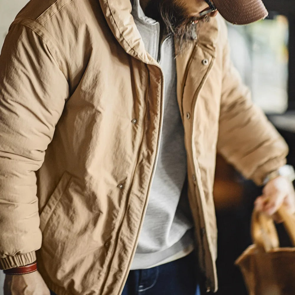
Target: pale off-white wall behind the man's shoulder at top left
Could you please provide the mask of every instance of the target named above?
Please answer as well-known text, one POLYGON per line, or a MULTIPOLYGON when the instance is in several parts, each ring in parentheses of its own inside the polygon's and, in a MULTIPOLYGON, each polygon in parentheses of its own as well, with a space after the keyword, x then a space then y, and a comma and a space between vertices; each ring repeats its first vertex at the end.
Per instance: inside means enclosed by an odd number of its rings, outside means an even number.
MULTIPOLYGON (((8 32, 9 25, 27 2, 27 0, 0 0, 0 49, 8 32)), ((3 282, 4 274, 0 271, 0 295, 3 295, 3 282)))

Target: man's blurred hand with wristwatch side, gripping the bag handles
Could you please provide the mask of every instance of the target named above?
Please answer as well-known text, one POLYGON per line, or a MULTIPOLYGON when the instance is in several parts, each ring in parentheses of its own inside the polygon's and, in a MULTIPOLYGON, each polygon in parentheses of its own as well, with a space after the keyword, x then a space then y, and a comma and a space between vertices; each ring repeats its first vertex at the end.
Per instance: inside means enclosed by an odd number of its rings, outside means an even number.
POLYGON ((277 219, 275 213, 284 204, 290 214, 295 213, 295 191, 287 178, 279 176, 269 181, 262 192, 255 201, 256 210, 277 219))

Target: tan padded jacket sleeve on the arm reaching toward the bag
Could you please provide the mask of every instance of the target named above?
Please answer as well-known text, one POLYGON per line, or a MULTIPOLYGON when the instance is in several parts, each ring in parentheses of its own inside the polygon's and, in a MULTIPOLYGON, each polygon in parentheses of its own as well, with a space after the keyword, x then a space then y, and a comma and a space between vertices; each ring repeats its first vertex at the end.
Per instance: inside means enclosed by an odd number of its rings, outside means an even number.
POLYGON ((249 89, 230 60, 228 42, 223 53, 217 150, 246 178, 262 185, 268 173, 285 165, 288 146, 262 110, 252 103, 249 89))

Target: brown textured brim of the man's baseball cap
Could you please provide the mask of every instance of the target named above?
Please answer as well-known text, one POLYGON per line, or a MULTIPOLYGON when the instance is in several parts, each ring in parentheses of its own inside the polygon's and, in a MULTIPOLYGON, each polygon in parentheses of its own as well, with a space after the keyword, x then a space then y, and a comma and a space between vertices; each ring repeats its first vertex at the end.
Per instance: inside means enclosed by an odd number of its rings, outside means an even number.
POLYGON ((261 0, 213 0, 219 13, 232 24, 250 24, 268 16, 261 0))

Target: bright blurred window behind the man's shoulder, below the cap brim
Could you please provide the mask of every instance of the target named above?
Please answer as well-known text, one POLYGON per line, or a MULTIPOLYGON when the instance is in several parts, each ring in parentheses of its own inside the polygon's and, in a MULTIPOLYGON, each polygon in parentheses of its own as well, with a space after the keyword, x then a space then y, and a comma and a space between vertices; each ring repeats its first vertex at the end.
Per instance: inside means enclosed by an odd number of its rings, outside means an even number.
POLYGON ((228 24, 233 63, 266 113, 288 107, 289 23, 274 15, 247 26, 228 24))

